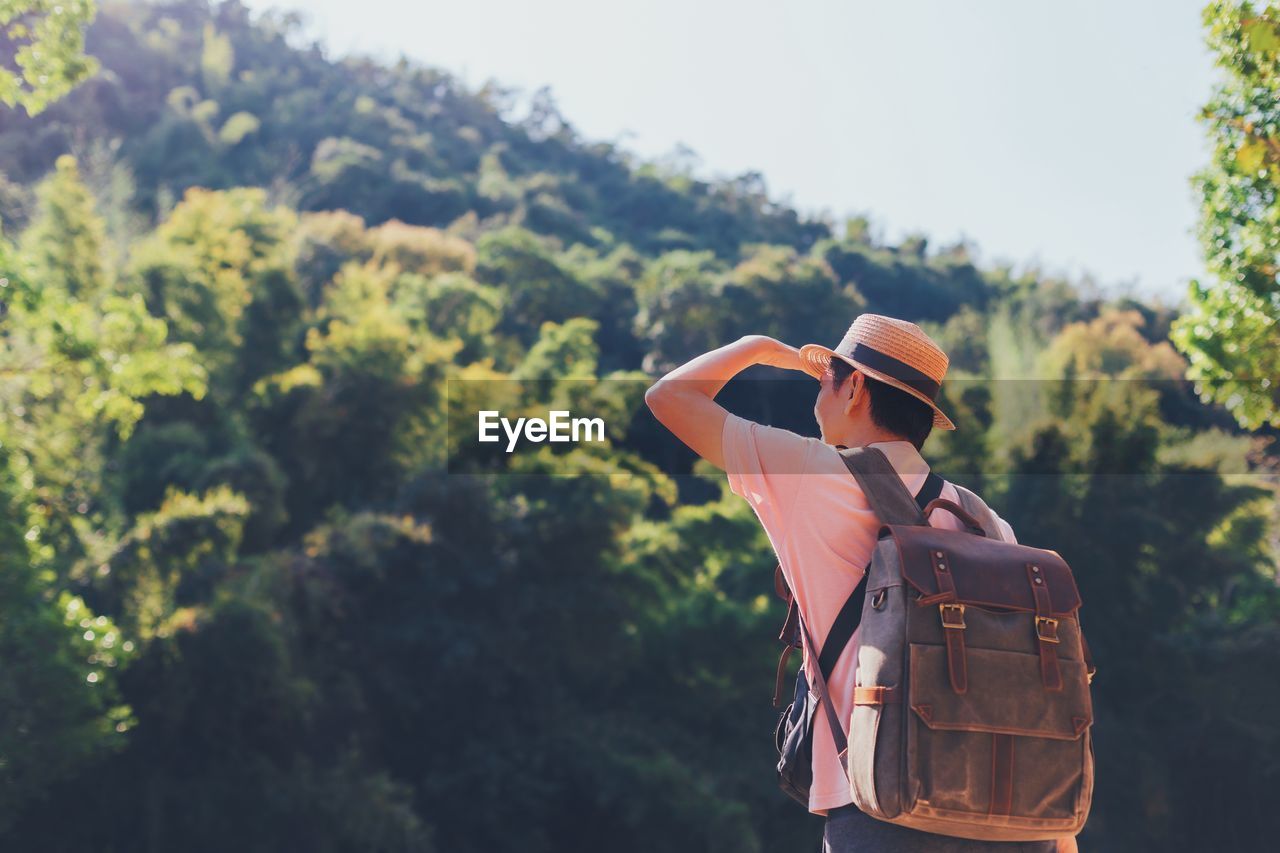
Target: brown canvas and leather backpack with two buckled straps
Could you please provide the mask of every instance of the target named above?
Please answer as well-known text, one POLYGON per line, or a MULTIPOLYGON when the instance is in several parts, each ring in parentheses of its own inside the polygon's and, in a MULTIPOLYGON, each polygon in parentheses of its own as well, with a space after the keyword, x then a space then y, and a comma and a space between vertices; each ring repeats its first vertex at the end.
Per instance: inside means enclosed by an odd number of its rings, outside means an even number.
POLYGON ((878 450, 841 456, 882 523, 860 584, 847 735, 827 697, 829 670, 814 683, 854 803, 940 835, 1078 834, 1093 798, 1094 667, 1070 567, 1053 551, 1004 542, 968 489, 956 487, 960 506, 937 498, 922 510, 878 450), (931 526, 938 508, 968 529, 931 526))

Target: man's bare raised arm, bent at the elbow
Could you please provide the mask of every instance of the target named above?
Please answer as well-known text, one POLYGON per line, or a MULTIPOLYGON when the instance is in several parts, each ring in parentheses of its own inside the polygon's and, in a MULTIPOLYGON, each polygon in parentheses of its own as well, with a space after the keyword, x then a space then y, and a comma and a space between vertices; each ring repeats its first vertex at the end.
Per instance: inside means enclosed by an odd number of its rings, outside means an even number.
POLYGON ((680 365, 649 387, 645 402, 676 438, 723 469, 728 412, 716 402, 716 394, 753 364, 800 370, 800 351, 763 334, 749 334, 680 365))

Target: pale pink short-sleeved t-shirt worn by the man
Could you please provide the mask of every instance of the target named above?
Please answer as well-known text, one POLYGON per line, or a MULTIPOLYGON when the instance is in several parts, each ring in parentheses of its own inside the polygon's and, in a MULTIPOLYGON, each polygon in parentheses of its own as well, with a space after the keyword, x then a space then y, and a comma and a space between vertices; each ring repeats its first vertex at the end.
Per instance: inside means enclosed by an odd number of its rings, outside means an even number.
MULTIPOLYGON (((901 441, 870 446, 883 451, 911 494, 920 491, 929 466, 914 444, 901 441)), ((800 606, 800 617, 822 648, 836 615, 870 562, 881 526, 858 480, 833 446, 737 415, 724 420, 724 470, 730 489, 746 498, 764 525, 800 606)), ((951 483, 943 484, 941 497, 957 503, 960 500, 951 483)), ((952 530, 961 526, 950 512, 933 512, 929 523, 952 530)), ((1006 542, 1016 540, 1004 519, 1000 528, 1006 542)), ((827 683, 846 731, 854 707, 858 642, 859 631, 854 631, 827 683)), ((817 658, 810 661, 806 652, 804 666, 813 684, 817 658)), ((854 798, 849 777, 836 758, 827 715, 820 708, 813 716, 813 725, 809 811, 826 815, 827 809, 854 798)))

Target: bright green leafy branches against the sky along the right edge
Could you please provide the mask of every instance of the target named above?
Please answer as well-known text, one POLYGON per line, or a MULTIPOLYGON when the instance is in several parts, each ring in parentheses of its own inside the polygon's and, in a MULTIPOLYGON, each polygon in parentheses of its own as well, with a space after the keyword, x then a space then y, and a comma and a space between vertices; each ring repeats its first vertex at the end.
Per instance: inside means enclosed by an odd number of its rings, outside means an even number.
POLYGON ((1212 160, 1196 179, 1210 280, 1193 282, 1171 337, 1206 398, 1244 426, 1280 426, 1280 10, 1215 0, 1204 24, 1224 70, 1202 114, 1212 160))

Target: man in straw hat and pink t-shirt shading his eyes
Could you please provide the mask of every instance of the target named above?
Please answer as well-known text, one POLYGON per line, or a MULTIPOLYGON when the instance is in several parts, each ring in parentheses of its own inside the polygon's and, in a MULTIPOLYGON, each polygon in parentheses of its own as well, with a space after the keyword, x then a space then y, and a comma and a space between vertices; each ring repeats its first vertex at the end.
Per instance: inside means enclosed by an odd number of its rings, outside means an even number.
MULTIPOLYGON (((861 580, 879 529, 836 448, 879 448, 906 488, 918 493, 929 473, 919 452, 924 441, 934 426, 955 429, 936 402, 947 364, 946 353, 914 323, 863 314, 835 350, 813 343, 796 350, 769 337, 748 336, 676 368, 645 394, 654 416, 694 452, 723 469, 733 493, 751 505, 819 648, 841 605, 861 580), (803 370, 820 382, 813 410, 820 441, 748 421, 716 402, 733 375, 755 364, 803 370)), ((941 497, 959 502, 951 483, 943 485, 941 497)), ((997 521, 1004 538, 1015 542, 1009 524, 997 521)), ((948 512, 932 514, 929 523, 961 526, 948 512)), ((828 681, 840 720, 849 720, 852 710, 858 640, 855 631, 828 681)), ((808 651, 804 666, 812 684, 817 660, 808 651)), ((1075 850, 1070 839, 1057 845, 972 841, 869 817, 852 804, 827 716, 814 715, 813 726, 809 811, 826 817, 824 850, 1075 850)))

